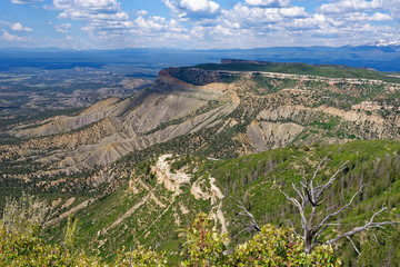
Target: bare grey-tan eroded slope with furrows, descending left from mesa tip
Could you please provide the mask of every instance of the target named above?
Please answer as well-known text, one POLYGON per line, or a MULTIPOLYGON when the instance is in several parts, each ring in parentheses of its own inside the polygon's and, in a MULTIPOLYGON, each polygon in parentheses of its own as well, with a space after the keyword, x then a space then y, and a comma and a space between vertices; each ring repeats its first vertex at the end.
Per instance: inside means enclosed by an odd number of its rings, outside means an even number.
POLYGON ((51 164, 54 171, 90 169, 131 151, 198 131, 229 115, 238 105, 231 92, 190 85, 172 88, 160 78, 156 85, 131 98, 107 99, 76 117, 56 117, 38 127, 13 129, 10 132, 17 137, 53 136, 4 146, 3 157, 9 158, 10 152, 26 155, 27 150, 42 152, 51 142, 51 148, 57 150, 41 155, 41 162, 51 164), (88 139, 91 129, 98 129, 97 135, 88 139), (74 134, 71 130, 76 130, 74 134))

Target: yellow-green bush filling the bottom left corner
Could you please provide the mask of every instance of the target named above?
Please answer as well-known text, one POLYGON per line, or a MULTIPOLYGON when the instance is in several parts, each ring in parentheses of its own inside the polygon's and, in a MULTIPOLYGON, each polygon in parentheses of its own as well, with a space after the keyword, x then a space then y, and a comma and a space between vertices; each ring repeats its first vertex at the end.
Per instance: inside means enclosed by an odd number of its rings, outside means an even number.
POLYGON ((0 220, 0 266, 100 266, 97 258, 73 249, 77 220, 70 218, 61 245, 40 238, 49 207, 33 196, 7 199, 0 220))

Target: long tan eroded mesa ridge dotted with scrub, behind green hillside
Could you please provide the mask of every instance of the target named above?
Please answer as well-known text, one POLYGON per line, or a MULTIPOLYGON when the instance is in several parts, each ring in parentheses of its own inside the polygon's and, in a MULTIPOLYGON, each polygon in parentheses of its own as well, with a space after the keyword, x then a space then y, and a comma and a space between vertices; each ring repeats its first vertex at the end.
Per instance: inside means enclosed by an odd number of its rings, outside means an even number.
MULTIPOLYGON (((399 90, 400 83, 383 80, 167 68, 130 98, 12 129, 24 140, 0 146, 0 160, 14 169, 33 164, 32 171, 4 172, 32 180, 154 151, 231 157, 288 145, 400 139, 400 102, 392 97, 399 90)), ((98 187, 111 177, 86 182, 98 187)))

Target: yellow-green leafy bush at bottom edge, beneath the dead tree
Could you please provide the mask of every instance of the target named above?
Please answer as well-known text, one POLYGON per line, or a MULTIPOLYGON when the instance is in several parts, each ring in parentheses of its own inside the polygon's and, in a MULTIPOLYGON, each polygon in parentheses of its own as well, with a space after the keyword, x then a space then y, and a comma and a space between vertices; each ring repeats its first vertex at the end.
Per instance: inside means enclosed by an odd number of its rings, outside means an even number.
POLYGON ((300 237, 272 225, 263 226, 260 234, 230 255, 226 253, 227 237, 211 227, 204 214, 187 229, 187 237, 188 259, 181 266, 340 266, 331 247, 322 246, 306 255, 300 237))

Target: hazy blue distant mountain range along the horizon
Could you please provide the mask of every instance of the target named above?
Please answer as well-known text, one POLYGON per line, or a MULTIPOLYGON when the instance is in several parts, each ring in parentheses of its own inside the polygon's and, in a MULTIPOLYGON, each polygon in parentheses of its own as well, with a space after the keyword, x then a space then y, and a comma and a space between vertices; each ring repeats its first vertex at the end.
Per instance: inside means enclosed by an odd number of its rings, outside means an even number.
POLYGON ((273 47, 230 50, 120 49, 61 50, 0 49, 0 70, 14 67, 74 68, 101 67, 109 63, 143 65, 161 70, 167 66, 191 66, 219 62, 222 58, 304 62, 311 65, 348 65, 379 71, 400 71, 400 42, 380 40, 366 46, 344 47, 273 47))

